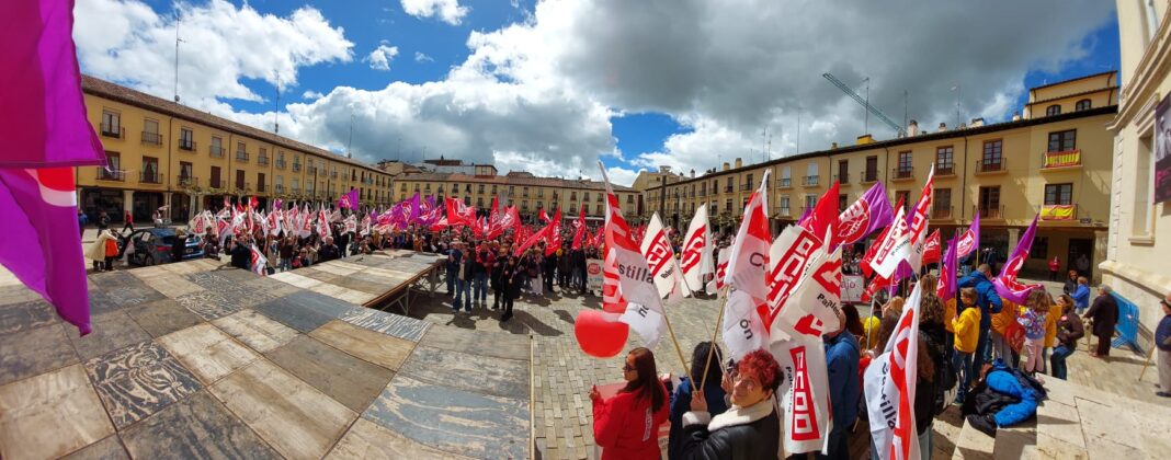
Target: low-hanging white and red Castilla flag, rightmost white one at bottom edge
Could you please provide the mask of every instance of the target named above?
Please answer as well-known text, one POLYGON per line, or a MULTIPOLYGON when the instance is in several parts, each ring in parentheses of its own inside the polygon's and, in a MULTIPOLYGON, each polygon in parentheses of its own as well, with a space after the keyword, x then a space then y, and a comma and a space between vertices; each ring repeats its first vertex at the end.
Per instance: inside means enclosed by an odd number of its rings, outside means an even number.
POLYGON ((870 437, 883 460, 918 460, 919 439, 915 426, 915 391, 919 358, 919 302, 923 293, 916 284, 886 351, 867 368, 862 379, 870 437))

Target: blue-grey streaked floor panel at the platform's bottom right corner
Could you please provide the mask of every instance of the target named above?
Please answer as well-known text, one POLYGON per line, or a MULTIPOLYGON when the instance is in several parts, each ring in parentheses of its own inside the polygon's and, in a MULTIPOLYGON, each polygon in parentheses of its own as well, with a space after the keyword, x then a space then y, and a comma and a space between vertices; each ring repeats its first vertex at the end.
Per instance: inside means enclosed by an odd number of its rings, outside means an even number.
POLYGON ((486 459, 528 458, 528 401, 395 376, 362 418, 416 442, 486 459))

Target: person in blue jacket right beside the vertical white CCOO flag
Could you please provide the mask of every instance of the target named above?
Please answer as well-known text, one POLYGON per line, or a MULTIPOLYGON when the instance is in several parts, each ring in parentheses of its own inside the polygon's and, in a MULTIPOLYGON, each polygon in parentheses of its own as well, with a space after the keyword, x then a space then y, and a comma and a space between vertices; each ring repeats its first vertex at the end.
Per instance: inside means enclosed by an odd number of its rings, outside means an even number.
POLYGON ((858 339, 845 330, 845 314, 837 311, 842 327, 823 336, 826 342, 826 369, 829 371, 829 401, 834 411, 834 427, 826 442, 828 453, 819 459, 848 459, 850 428, 858 418, 858 400, 862 398, 862 380, 858 377, 861 348, 858 339))

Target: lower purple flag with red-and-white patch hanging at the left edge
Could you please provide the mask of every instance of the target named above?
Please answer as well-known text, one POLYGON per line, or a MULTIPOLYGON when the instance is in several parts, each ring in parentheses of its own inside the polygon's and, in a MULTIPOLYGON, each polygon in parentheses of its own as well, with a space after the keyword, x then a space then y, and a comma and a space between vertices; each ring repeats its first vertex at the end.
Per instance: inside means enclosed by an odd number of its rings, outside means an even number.
POLYGON ((0 167, 0 215, 6 222, 0 263, 52 303, 81 335, 89 334, 73 169, 0 167))

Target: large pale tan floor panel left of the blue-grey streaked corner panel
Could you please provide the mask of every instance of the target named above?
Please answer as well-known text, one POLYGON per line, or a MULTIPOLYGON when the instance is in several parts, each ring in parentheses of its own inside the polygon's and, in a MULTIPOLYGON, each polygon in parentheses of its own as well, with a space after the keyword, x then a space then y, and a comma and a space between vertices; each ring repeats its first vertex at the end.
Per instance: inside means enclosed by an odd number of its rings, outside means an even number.
POLYGON ((289 459, 320 459, 357 417, 265 359, 212 385, 211 392, 289 459))

